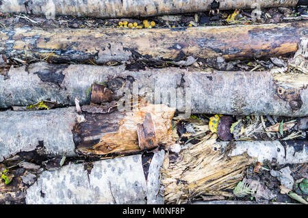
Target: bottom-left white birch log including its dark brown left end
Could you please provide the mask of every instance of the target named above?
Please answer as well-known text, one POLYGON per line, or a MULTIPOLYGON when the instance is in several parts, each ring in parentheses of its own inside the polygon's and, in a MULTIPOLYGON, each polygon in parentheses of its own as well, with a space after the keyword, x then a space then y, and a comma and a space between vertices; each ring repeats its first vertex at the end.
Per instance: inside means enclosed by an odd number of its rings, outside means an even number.
POLYGON ((0 204, 164 204, 159 191, 164 150, 153 154, 147 178, 142 161, 137 154, 90 165, 68 163, 40 172, 33 185, 15 176, 10 185, 0 184, 0 204))

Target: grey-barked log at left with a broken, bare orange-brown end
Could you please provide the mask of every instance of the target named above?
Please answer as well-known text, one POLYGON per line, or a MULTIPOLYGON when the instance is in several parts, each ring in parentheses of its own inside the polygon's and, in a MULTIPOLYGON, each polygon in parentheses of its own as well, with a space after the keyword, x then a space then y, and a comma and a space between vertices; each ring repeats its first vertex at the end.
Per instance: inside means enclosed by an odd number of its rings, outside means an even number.
POLYGON ((46 156, 77 156, 75 146, 84 154, 138 152, 137 126, 144 122, 147 113, 153 119, 152 139, 157 143, 172 143, 170 131, 175 109, 166 105, 84 115, 79 115, 74 107, 3 111, 0 112, 0 161, 31 150, 46 156))

